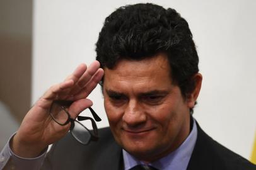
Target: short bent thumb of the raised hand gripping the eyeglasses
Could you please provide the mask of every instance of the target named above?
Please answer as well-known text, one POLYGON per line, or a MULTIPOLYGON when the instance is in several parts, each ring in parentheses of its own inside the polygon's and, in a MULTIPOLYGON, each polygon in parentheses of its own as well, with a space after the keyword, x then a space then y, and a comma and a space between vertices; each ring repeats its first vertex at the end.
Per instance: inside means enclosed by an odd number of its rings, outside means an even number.
POLYGON ((86 108, 89 108, 93 105, 93 102, 90 99, 79 99, 77 101, 74 101, 72 105, 69 107, 69 113, 71 115, 71 118, 75 119, 81 111, 85 110, 86 108))

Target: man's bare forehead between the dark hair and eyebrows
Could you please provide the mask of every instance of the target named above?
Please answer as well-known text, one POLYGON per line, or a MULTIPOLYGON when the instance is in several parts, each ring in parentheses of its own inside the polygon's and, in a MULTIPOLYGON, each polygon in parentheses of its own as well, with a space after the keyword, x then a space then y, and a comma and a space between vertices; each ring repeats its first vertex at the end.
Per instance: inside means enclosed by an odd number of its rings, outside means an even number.
POLYGON ((143 60, 120 60, 113 69, 104 68, 104 87, 155 88, 172 83, 170 65, 164 54, 143 60))

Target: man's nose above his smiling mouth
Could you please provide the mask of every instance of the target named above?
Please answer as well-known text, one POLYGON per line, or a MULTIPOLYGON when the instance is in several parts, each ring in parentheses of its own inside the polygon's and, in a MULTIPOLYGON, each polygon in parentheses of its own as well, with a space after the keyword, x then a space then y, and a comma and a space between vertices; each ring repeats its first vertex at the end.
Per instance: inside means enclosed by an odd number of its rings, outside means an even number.
POLYGON ((146 122, 146 114, 143 111, 143 107, 135 99, 130 99, 127 107, 125 108, 122 120, 129 127, 141 125, 146 122))

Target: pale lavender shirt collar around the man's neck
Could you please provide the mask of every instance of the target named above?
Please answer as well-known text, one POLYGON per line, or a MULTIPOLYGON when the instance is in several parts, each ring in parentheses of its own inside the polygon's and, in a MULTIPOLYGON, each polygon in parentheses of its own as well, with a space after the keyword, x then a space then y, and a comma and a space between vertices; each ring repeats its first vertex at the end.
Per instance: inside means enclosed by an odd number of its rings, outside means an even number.
MULTIPOLYGON (((163 170, 187 169, 187 165, 189 164, 189 160, 194 150, 196 140, 197 125, 193 118, 193 127, 187 139, 185 139, 184 142, 176 150, 174 150, 167 156, 162 157, 158 161, 152 162, 148 165, 163 170)), ((137 160, 134 156, 126 152, 124 149, 122 150, 122 154, 124 157, 124 170, 131 169, 138 164, 144 164, 144 162, 137 160)))

